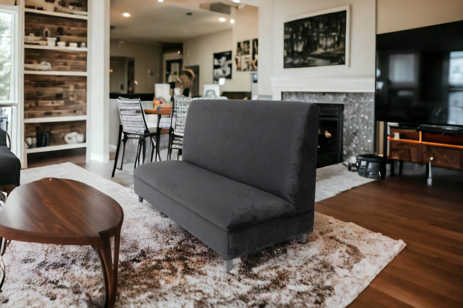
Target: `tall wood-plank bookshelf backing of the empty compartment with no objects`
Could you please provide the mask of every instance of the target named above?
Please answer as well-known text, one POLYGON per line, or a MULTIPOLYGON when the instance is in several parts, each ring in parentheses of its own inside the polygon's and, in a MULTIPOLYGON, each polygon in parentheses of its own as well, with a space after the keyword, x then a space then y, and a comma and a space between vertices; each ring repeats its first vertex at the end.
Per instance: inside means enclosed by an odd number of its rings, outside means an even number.
POLYGON ((87 114, 87 77, 24 76, 24 118, 87 114))

